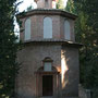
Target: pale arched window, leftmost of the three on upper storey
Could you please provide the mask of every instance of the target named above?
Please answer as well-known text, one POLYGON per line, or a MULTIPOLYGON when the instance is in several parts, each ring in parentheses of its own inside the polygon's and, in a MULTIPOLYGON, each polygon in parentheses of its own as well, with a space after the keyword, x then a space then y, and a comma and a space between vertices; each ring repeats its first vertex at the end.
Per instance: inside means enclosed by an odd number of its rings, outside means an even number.
POLYGON ((30 39, 30 19, 25 21, 25 40, 30 39))

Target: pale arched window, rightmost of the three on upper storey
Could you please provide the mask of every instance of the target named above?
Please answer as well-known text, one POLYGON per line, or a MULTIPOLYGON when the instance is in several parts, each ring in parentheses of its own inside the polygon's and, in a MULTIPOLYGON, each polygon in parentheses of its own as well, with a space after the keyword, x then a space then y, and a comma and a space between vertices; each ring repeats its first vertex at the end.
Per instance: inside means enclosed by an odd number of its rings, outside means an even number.
POLYGON ((64 22, 64 38, 68 40, 71 40, 71 28, 70 28, 70 22, 64 22))

